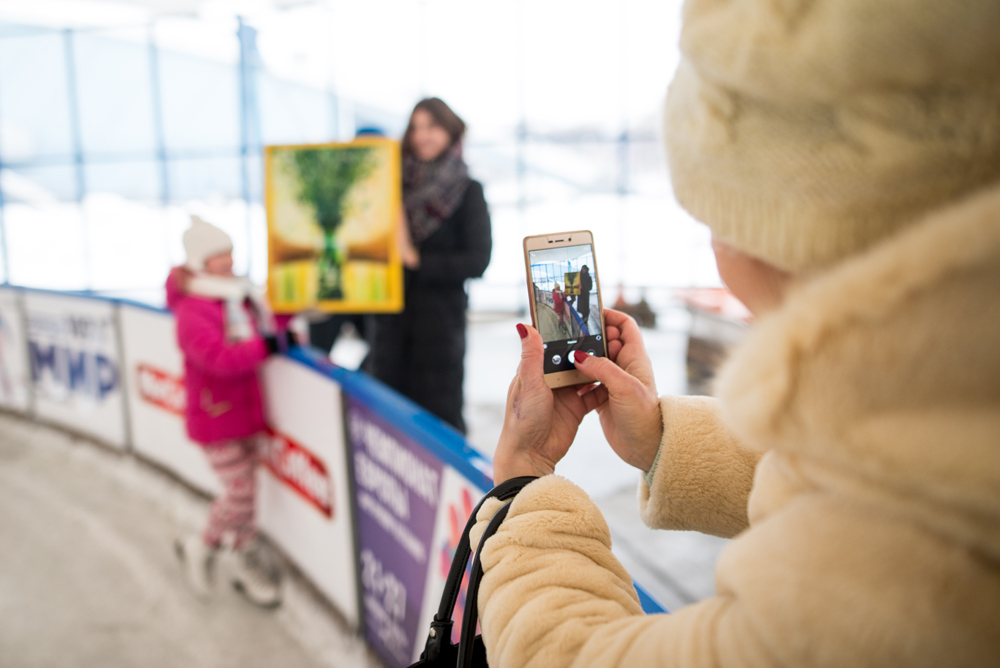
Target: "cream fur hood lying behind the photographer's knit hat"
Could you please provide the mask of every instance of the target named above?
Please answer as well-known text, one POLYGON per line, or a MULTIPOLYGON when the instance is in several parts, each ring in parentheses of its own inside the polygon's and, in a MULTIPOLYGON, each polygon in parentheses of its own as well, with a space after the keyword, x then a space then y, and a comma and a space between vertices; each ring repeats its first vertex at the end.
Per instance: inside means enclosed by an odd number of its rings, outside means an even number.
POLYGON ((1000 558, 1000 187, 807 282, 717 389, 735 436, 804 484, 1000 558))

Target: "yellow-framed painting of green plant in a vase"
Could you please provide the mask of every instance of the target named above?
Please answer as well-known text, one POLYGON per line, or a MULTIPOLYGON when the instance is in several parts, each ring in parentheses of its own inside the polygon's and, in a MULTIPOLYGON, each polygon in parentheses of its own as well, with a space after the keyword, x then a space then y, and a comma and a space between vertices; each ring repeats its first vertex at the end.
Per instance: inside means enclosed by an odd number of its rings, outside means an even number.
POLYGON ((268 146, 264 156, 275 311, 401 311, 399 144, 268 146))

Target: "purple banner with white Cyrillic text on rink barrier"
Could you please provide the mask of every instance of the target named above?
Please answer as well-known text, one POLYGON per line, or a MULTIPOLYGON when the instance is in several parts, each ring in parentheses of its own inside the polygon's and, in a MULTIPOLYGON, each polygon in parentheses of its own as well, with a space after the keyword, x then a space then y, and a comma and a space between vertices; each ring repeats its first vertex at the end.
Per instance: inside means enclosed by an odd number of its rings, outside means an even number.
POLYGON ((402 668, 414 652, 443 466, 353 398, 348 428, 365 636, 387 666, 402 668))

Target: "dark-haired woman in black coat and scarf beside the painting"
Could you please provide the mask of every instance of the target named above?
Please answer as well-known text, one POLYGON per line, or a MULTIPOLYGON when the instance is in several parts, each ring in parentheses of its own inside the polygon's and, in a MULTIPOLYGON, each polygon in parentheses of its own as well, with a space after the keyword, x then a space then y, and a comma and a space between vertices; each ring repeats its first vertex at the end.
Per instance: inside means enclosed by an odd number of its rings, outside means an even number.
POLYGON ((465 281, 490 263, 483 186, 462 159, 465 123, 438 98, 421 100, 403 135, 400 248, 406 306, 374 318, 369 372, 465 433, 465 281))

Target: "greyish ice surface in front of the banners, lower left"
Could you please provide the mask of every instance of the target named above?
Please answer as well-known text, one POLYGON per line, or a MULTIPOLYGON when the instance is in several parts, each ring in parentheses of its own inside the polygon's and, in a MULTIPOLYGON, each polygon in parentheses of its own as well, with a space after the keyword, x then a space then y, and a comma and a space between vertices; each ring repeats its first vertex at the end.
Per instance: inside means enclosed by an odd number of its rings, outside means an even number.
POLYGON ((187 589, 172 542, 205 500, 62 432, 0 415, 0 666, 374 668, 301 582, 255 608, 216 573, 187 589))

